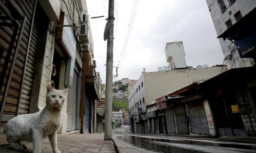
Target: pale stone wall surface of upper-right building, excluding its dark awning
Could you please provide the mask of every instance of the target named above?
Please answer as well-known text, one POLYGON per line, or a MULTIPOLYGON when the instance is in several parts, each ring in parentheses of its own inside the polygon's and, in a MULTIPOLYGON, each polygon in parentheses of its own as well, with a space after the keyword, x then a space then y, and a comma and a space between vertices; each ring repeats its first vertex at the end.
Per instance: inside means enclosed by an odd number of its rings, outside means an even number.
MULTIPOLYGON (((231 20, 232 24, 237 22, 236 18, 234 17, 237 12, 240 11, 241 15, 245 16, 247 13, 252 11, 253 8, 256 7, 255 0, 237 0, 232 5, 229 0, 224 0, 227 9, 225 12, 223 12, 217 0, 206 0, 206 2, 218 36, 227 30, 226 22, 228 20, 231 20)), ((230 56, 231 51, 235 45, 230 40, 223 40, 223 38, 219 38, 219 43, 221 44, 224 58, 230 56)), ((252 66, 252 62, 254 60, 251 58, 241 59, 236 46, 234 47, 232 54, 232 57, 229 57, 226 60, 228 69, 252 66)))

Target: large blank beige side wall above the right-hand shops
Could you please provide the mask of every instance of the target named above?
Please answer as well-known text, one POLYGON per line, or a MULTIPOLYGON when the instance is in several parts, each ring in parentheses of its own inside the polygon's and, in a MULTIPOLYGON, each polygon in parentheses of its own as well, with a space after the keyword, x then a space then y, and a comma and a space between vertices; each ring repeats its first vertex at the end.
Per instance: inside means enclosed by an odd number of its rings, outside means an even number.
POLYGON ((224 66, 144 73, 146 104, 149 105, 168 92, 177 91, 193 82, 210 79, 225 69, 224 66))

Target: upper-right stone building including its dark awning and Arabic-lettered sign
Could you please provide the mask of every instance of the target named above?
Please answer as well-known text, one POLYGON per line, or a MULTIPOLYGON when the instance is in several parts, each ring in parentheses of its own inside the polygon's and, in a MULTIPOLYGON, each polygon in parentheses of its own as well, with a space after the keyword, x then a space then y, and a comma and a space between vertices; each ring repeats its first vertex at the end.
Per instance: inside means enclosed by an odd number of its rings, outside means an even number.
POLYGON ((252 66, 254 60, 251 57, 255 55, 256 50, 256 48, 253 49, 256 40, 253 34, 255 33, 253 32, 255 31, 255 0, 206 0, 206 2, 227 68, 252 66))

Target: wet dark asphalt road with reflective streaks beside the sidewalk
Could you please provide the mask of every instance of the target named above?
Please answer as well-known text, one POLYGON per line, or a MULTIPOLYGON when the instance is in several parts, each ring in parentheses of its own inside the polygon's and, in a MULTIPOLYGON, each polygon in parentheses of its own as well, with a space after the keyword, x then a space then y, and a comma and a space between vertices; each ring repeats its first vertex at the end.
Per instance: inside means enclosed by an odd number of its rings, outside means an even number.
POLYGON ((142 152, 162 153, 251 153, 256 152, 255 140, 227 140, 166 135, 128 133, 129 127, 112 130, 113 139, 138 148, 142 152))

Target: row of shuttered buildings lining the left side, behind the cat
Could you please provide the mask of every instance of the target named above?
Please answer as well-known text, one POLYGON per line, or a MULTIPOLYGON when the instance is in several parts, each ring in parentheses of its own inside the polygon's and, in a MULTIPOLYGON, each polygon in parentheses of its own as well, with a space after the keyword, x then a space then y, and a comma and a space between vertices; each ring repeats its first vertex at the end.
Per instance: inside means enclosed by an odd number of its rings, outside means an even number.
POLYGON ((1 129, 18 114, 41 111, 50 84, 59 90, 69 87, 58 133, 93 133, 99 91, 86 1, 1 3, 0 22, 8 23, 0 26, 1 129))

